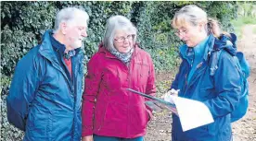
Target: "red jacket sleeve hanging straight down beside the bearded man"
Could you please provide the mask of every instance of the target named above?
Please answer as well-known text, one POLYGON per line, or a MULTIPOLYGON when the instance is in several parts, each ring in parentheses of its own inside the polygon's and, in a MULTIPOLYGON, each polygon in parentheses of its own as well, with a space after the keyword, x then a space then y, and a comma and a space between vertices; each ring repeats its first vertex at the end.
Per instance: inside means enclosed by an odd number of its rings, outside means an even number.
POLYGON ((84 81, 83 105, 82 105, 82 136, 93 135, 94 110, 98 93, 101 73, 96 55, 87 65, 87 75, 84 81))

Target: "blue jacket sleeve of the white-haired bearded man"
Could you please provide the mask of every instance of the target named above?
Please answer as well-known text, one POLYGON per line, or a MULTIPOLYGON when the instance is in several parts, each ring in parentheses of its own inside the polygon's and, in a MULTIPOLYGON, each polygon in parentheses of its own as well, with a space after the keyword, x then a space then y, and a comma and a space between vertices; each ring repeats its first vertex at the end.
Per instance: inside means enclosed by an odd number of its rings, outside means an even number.
POLYGON ((15 68, 6 98, 7 119, 25 131, 29 107, 39 87, 38 68, 30 55, 24 56, 15 68))

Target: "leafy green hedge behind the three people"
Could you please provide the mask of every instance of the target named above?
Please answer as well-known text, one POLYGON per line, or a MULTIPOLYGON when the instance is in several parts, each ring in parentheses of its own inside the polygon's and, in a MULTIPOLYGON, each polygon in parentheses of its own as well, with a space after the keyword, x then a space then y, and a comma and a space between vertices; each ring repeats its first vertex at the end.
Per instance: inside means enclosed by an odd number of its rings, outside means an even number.
POLYGON ((102 40, 106 20, 113 15, 130 18, 138 29, 141 48, 151 54, 157 72, 173 70, 179 64, 178 46, 171 19, 182 6, 195 4, 217 18, 224 30, 232 31, 237 2, 0 2, 1 4, 1 140, 22 140, 23 133, 6 119, 6 96, 19 59, 36 44, 46 29, 52 29, 56 13, 67 6, 83 8, 89 15, 88 38, 84 42, 86 63, 102 40))

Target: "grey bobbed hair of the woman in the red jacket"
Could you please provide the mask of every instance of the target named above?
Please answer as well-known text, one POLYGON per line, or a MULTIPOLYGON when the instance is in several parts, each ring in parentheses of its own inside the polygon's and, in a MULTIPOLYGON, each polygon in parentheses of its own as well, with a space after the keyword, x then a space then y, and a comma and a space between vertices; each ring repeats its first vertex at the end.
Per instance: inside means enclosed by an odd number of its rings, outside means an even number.
POLYGON ((134 42, 136 41, 137 29, 134 27, 133 23, 123 16, 113 16, 107 21, 106 32, 103 39, 103 45, 109 51, 114 48, 115 33, 118 29, 133 34, 134 42))

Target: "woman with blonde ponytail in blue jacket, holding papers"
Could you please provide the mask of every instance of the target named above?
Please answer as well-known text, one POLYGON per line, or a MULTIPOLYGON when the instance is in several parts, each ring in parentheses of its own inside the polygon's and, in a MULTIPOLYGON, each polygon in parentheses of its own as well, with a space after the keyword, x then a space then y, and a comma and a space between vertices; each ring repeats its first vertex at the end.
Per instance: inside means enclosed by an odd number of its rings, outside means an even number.
POLYGON ((182 63, 172 87, 179 97, 202 101, 210 109, 214 123, 182 131, 179 117, 173 114, 173 141, 232 140, 230 112, 238 102, 241 79, 233 61, 236 44, 221 33, 216 20, 198 6, 184 6, 175 13, 173 29, 185 44, 180 47, 182 63), (223 50, 218 68, 210 75, 211 52, 223 50))

